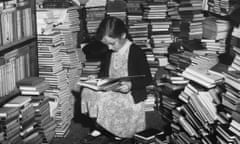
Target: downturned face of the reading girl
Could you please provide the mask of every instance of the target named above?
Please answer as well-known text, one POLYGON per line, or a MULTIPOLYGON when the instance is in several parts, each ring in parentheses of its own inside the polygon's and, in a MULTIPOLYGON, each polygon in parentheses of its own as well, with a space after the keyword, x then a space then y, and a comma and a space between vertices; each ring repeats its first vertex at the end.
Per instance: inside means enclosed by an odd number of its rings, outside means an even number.
POLYGON ((121 38, 112 38, 109 36, 104 36, 102 39, 102 42, 106 45, 108 45, 108 48, 112 51, 118 51, 121 49, 126 42, 125 35, 123 35, 121 38))

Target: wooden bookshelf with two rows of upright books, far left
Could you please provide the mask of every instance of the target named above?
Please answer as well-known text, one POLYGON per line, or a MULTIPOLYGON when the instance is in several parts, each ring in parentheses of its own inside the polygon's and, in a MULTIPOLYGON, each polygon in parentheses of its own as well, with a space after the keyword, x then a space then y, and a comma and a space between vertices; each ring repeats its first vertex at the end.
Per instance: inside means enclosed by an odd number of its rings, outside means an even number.
POLYGON ((16 82, 38 75, 34 0, 0 1, 0 106, 18 95, 16 82))

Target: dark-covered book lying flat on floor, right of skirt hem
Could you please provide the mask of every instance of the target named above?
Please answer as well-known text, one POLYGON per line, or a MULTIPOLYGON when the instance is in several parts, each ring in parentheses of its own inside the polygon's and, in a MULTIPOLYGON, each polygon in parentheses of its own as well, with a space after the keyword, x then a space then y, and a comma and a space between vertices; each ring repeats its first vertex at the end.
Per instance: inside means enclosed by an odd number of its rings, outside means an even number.
POLYGON ((136 133, 134 136, 142 140, 152 140, 155 138, 156 135, 162 135, 162 134, 164 134, 163 131, 160 131, 154 128, 149 128, 144 131, 136 133))

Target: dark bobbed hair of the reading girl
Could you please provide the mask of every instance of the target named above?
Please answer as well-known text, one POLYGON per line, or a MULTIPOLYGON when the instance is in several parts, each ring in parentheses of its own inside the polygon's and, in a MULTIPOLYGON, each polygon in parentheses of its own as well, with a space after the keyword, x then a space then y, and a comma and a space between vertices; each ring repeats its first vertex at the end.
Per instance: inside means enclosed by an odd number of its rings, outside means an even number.
POLYGON ((107 16, 99 24, 96 32, 96 39, 102 40, 104 36, 120 38, 124 33, 128 35, 124 22, 119 18, 107 16))

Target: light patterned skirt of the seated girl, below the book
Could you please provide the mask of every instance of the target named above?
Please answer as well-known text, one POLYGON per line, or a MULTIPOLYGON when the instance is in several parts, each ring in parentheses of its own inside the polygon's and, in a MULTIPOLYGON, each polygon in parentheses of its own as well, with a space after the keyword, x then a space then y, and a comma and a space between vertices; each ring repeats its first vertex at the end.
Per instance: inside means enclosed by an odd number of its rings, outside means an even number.
POLYGON ((135 104, 130 93, 99 92, 84 88, 82 113, 97 118, 97 123, 112 134, 128 138, 145 129, 144 102, 135 104))

